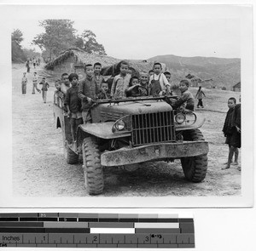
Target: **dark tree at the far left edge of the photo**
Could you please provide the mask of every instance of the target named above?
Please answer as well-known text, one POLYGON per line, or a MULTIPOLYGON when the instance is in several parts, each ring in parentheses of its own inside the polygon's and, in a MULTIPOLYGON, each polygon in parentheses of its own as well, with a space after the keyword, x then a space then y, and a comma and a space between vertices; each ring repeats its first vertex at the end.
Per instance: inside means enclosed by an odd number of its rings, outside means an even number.
POLYGON ((23 41, 23 34, 19 29, 12 32, 12 62, 21 63, 26 61, 26 55, 24 54, 20 43, 23 41))

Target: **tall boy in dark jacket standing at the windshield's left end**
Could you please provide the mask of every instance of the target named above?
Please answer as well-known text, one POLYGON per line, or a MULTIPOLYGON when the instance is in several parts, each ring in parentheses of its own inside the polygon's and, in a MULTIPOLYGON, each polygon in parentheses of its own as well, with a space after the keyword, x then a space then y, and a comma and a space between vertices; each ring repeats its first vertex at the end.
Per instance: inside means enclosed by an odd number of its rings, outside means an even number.
POLYGON ((91 123, 90 108, 94 106, 93 100, 96 100, 98 87, 95 80, 93 66, 85 66, 86 76, 79 82, 79 99, 82 101, 82 116, 85 123, 91 123))

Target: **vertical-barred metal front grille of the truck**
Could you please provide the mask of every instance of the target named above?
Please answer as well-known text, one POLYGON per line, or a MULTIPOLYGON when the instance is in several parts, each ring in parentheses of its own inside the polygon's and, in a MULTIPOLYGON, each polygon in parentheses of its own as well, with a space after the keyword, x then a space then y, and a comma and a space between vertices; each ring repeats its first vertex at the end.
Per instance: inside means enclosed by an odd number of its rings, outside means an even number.
POLYGON ((132 145, 175 140, 173 111, 132 115, 132 145))

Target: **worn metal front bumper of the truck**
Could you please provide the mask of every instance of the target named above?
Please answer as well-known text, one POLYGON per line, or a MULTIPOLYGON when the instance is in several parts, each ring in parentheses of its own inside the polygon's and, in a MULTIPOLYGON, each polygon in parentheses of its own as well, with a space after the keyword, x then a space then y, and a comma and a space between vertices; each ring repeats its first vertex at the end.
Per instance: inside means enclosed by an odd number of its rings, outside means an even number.
POLYGON ((167 158, 194 157, 207 154, 207 141, 186 141, 143 145, 135 148, 122 148, 102 153, 102 166, 112 167, 135 163, 143 163, 167 158))

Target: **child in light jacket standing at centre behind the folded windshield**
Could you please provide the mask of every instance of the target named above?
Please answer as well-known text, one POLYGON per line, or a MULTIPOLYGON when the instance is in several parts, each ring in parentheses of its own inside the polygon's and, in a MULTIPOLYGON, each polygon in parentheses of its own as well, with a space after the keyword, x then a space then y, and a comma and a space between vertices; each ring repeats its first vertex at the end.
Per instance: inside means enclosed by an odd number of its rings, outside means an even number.
POLYGON ((131 79, 129 71, 129 64, 126 61, 120 63, 120 73, 113 78, 111 87, 111 97, 114 99, 122 99, 126 97, 125 89, 128 88, 131 79))

